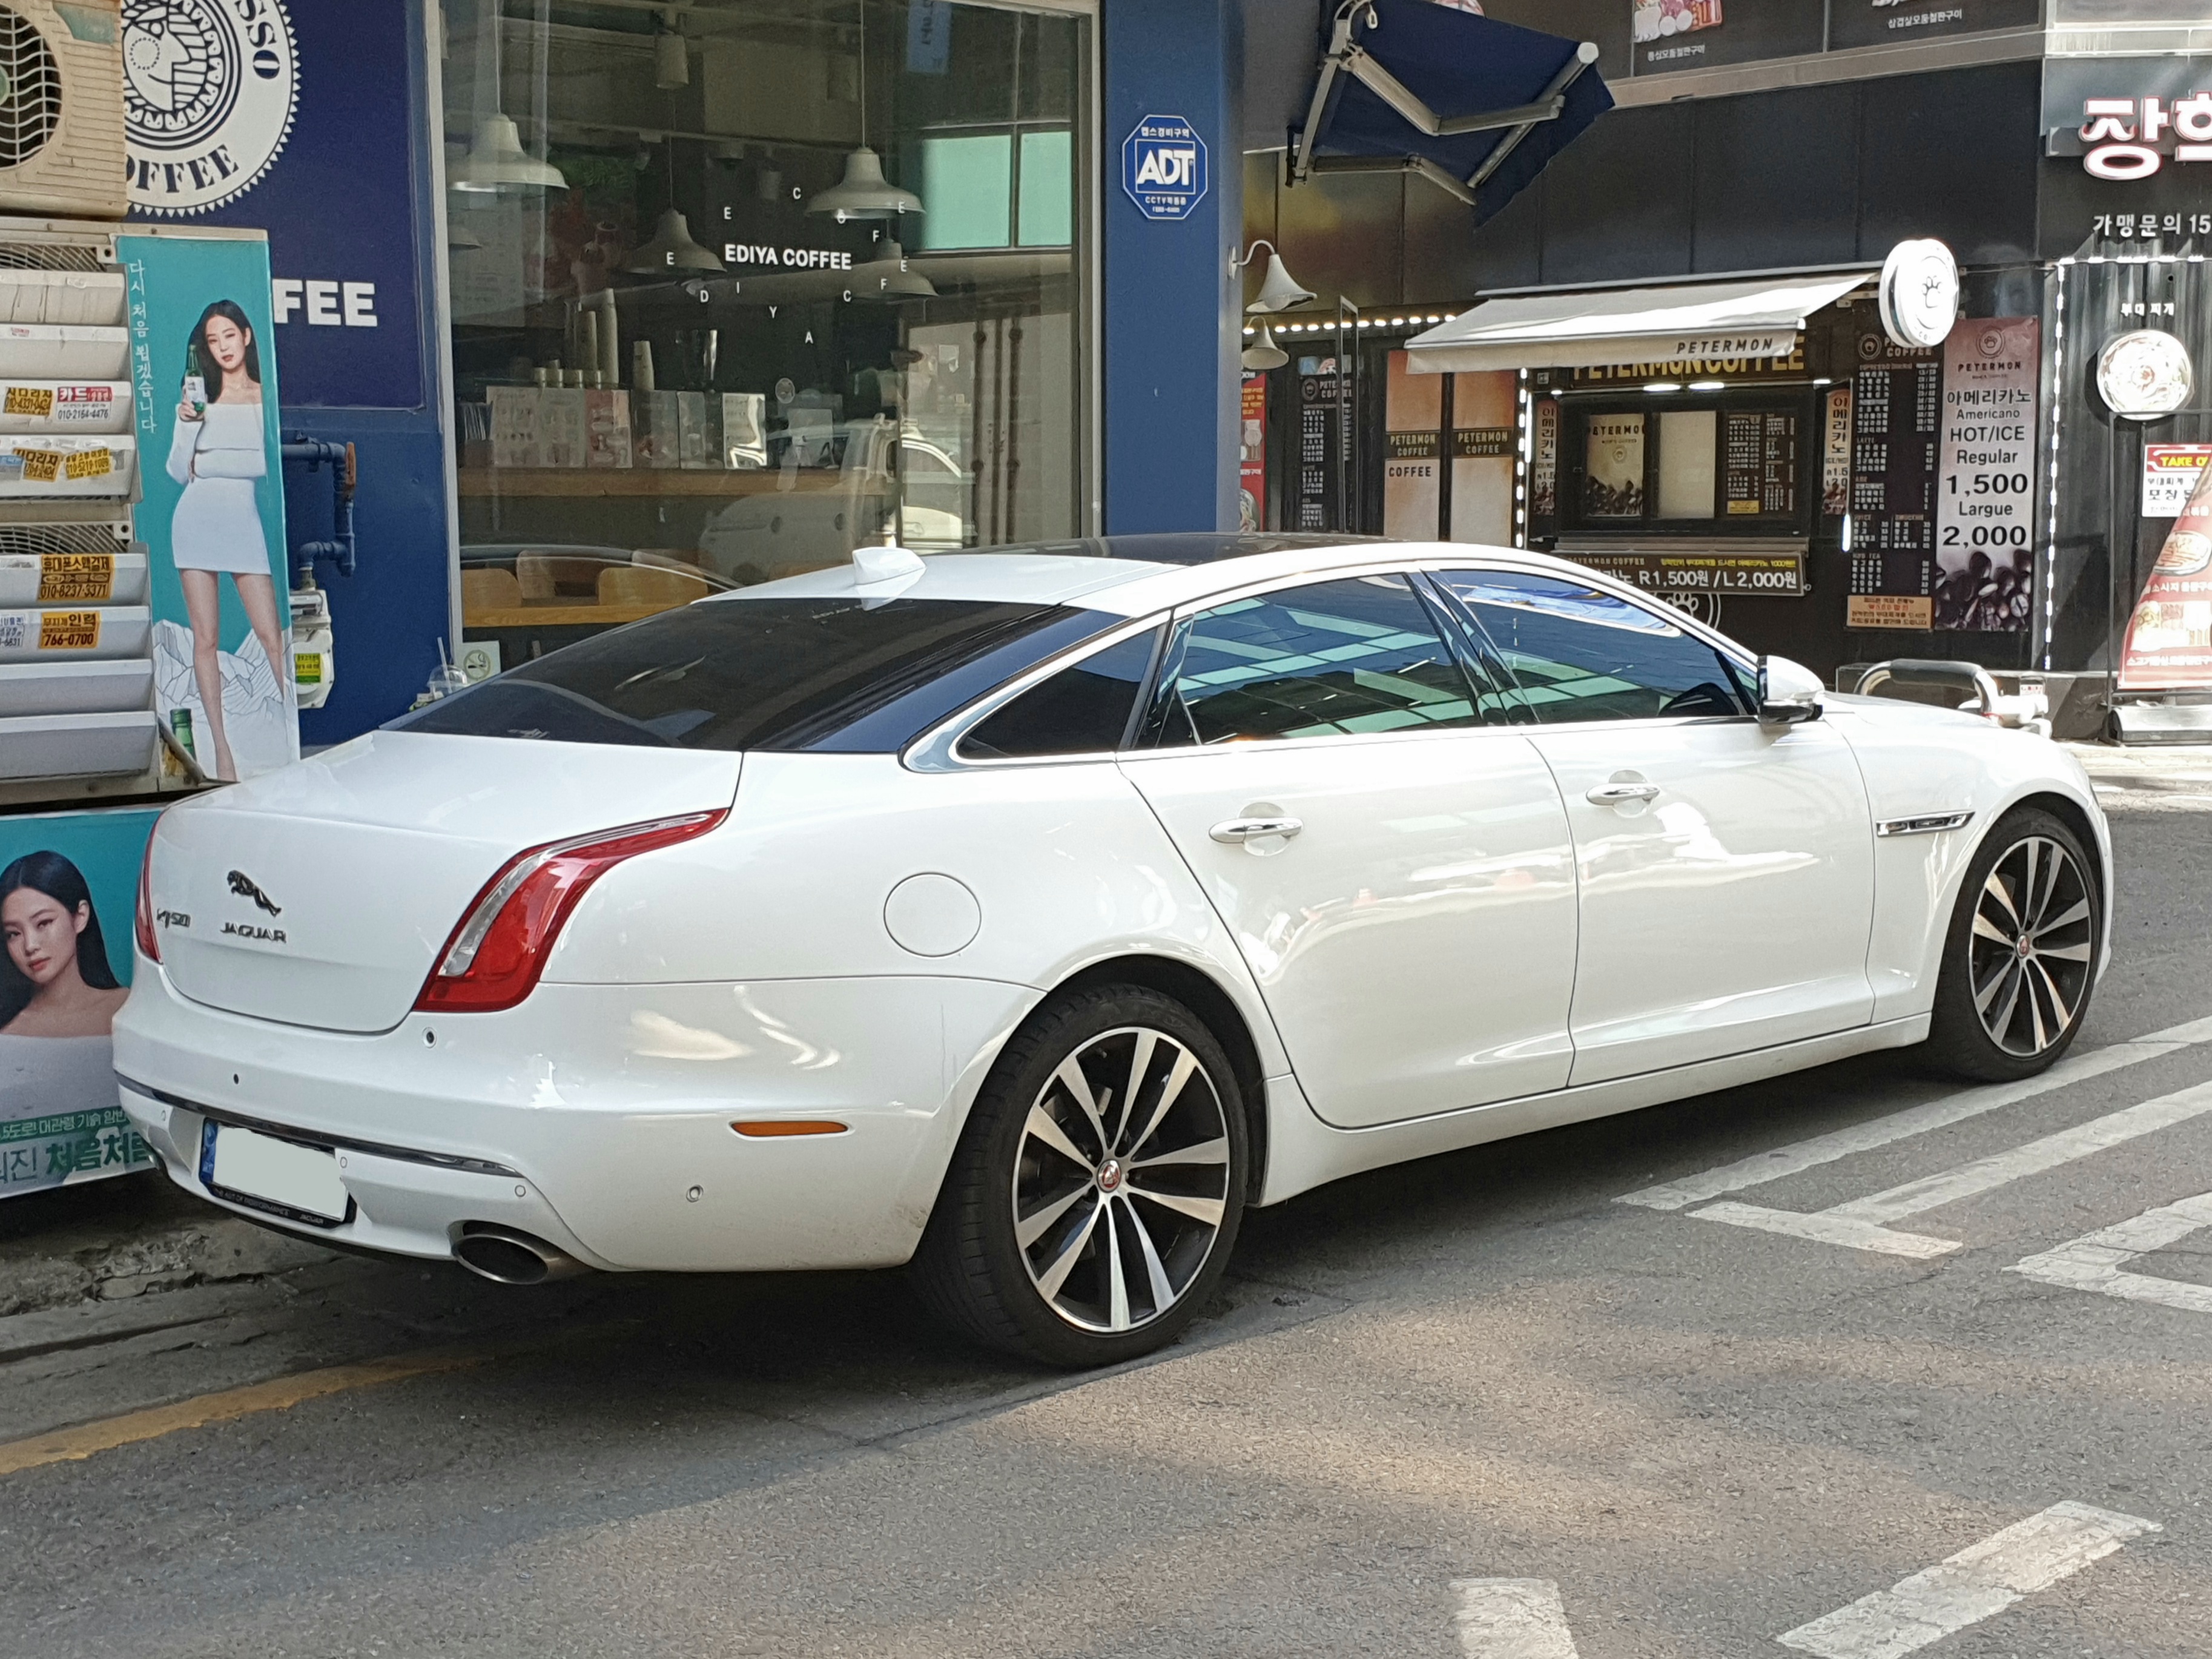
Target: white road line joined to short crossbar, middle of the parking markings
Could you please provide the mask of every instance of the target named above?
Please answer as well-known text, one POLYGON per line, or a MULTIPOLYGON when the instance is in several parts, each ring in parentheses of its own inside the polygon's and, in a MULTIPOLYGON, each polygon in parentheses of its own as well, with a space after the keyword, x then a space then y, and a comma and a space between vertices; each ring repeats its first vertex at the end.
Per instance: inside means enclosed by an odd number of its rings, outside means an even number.
POLYGON ((1699 1221, 1725 1221, 1732 1228, 1759 1228, 1761 1232, 1781 1232, 1792 1239, 1927 1261, 1929 1256, 1949 1254, 1960 1245, 1951 1239, 1931 1239, 1920 1232, 1893 1232, 1887 1223, 1991 1192, 2026 1175, 2055 1170, 2062 1164, 2073 1164, 2141 1135, 2185 1124, 2205 1113, 2212 1113, 2212 1084, 2197 1084, 2194 1088, 2181 1088, 2172 1095, 2159 1095, 2139 1106, 2095 1117, 2057 1135, 2044 1135, 2039 1141, 2015 1146, 2008 1152, 1995 1152, 1993 1157, 1982 1157, 1940 1175, 1924 1175, 1887 1192, 1836 1203, 1812 1214, 1767 1210, 1756 1203, 1708 1203, 1703 1210, 1692 1210, 1690 1214, 1699 1221))

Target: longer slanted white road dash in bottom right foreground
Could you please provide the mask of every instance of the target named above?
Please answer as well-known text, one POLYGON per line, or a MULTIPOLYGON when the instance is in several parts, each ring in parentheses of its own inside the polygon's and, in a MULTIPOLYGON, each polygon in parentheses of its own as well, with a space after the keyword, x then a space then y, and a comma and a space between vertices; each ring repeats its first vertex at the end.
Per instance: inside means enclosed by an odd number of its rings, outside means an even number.
POLYGON ((1953 1630, 2002 1613, 2099 1562, 2130 1537, 2166 1531, 2141 1515, 2053 1504, 1927 1573, 1774 1637, 1820 1659, 1900 1659, 1953 1630))

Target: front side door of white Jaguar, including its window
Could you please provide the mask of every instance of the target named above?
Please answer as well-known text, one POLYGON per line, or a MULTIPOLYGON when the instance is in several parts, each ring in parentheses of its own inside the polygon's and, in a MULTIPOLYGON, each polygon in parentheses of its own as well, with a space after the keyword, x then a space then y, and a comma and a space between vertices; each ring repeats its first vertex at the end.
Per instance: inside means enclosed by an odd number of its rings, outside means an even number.
POLYGON ((1566 801, 1582 951, 1575 1084, 1874 1018, 1874 823, 1832 726, 1763 726, 1663 606, 1553 575, 1438 571, 1537 717, 1566 801))

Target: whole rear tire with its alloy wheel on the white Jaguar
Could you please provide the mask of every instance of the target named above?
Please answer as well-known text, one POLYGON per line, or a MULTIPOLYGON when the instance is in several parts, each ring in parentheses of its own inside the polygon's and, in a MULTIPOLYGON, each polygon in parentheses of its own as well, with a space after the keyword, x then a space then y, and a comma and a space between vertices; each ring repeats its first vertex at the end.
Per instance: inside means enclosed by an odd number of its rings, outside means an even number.
POLYGON ((1221 1281, 1248 1144, 1234 1068, 1190 1009, 1137 984, 1055 995, 960 1133, 914 1259, 922 1296, 1048 1365, 1150 1354, 1221 1281))

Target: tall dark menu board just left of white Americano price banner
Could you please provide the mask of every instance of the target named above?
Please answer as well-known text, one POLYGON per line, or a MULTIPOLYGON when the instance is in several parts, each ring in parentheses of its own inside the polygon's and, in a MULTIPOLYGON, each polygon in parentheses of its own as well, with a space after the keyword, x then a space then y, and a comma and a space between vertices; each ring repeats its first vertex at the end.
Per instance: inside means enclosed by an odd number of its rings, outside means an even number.
POLYGON ((1858 336, 1851 376, 1849 628, 1936 626, 1942 352, 1858 336))

